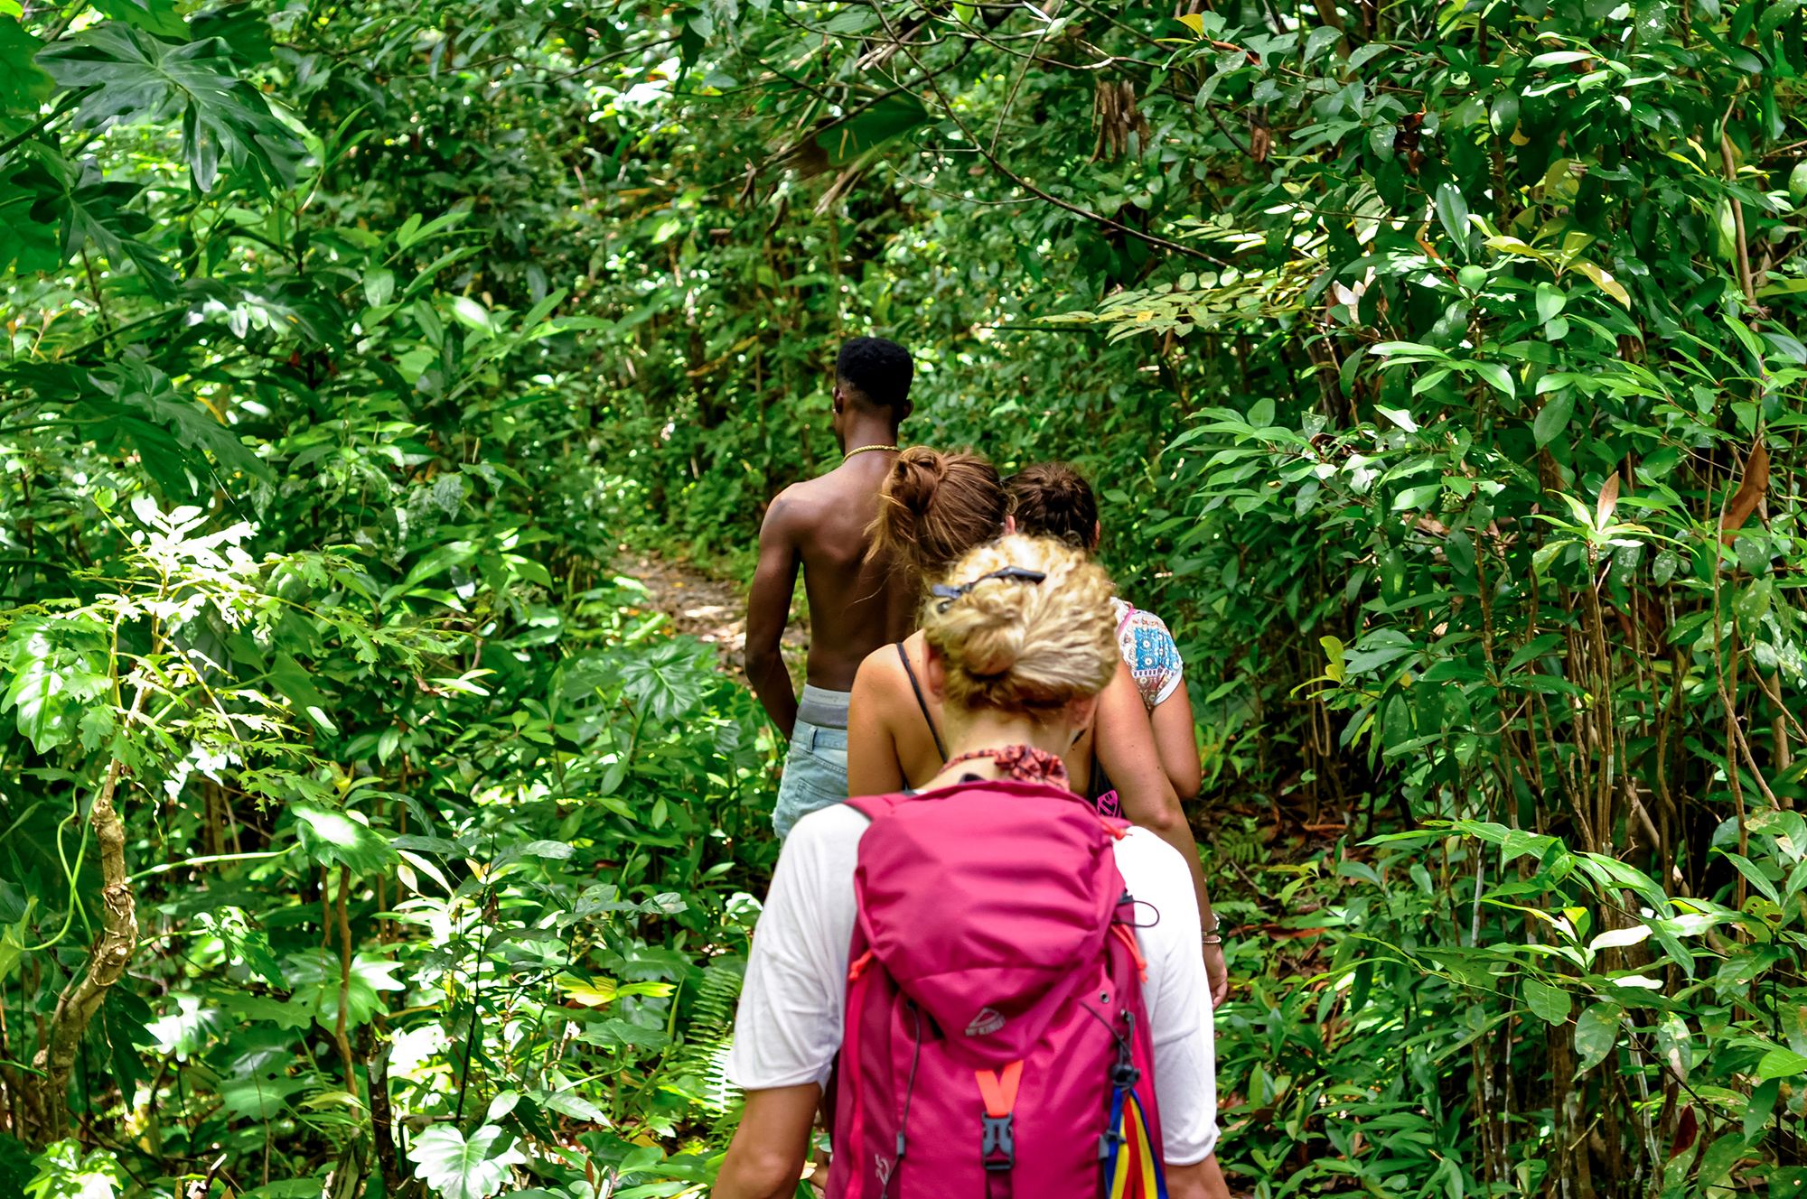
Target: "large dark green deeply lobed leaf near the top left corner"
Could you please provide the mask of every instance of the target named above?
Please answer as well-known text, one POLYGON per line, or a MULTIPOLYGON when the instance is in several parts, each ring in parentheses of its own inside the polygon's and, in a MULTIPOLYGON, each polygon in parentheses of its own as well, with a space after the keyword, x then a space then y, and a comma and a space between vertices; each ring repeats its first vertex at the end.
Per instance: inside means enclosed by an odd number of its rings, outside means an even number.
POLYGON ((213 188, 222 159, 269 181, 293 182, 300 139, 262 94, 237 78, 217 38, 168 45, 126 23, 85 29, 45 49, 38 61, 81 99, 83 125, 183 121, 183 157, 195 186, 213 188))

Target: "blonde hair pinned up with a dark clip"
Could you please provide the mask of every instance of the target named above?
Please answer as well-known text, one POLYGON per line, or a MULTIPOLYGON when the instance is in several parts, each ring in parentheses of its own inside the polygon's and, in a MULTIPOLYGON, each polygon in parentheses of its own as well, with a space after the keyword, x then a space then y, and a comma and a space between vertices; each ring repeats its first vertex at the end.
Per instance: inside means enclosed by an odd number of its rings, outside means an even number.
POLYGON ((1109 576, 1044 536, 1003 536, 967 553, 943 583, 969 585, 931 600, 922 630, 940 652, 949 702, 1006 711, 1059 708, 1097 695, 1117 674, 1117 619, 1109 576), (985 578, 1021 567, 1039 583, 985 578))

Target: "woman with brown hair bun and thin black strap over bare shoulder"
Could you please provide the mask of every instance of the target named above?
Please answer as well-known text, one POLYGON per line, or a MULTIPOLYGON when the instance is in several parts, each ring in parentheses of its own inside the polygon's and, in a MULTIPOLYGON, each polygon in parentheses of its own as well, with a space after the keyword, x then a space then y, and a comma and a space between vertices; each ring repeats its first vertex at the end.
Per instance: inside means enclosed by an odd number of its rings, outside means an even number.
MULTIPOLYGON (((1014 531, 997 471, 976 453, 914 446, 898 455, 878 493, 873 553, 889 553, 927 590, 969 551, 1014 531)), ((947 742, 941 695, 929 684, 929 654, 918 630, 873 650, 847 701, 847 795, 918 789, 941 773, 947 742)), ((1064 757, 1073 789, 1100 800, 1115 787, 1124 818, 1180 850, 1193 874, 1212 1002, 1229 993, 1218 921, 1205 896, 1198 843, 1160 766, 1142 693, 1126 665, 1099 695, 1099 715, 1064 757), (1109 782, 1102 784, 1108 775, 1109 782), (1091 780, 1084 785, 1082 780, 1091 780)))

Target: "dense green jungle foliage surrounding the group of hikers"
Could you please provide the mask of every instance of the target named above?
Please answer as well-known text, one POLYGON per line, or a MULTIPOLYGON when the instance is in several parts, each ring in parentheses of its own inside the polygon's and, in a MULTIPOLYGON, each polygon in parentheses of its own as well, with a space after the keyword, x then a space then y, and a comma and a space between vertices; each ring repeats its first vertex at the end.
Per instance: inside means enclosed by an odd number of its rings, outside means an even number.
POLYGON ((1807 1185, 1802 0, 0 0, 0 1194, 696 1194, 842 336, 1178 630, 1263 1197, 1807 1185))

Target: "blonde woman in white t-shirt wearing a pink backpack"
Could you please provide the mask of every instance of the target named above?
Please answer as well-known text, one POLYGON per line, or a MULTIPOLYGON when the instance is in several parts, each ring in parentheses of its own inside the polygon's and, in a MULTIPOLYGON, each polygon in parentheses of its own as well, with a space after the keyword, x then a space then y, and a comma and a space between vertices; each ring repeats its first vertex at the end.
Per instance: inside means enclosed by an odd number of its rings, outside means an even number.
POLYGON ((929 589, 945 760, 786 840, 717 1199, 795 1194, 831 1069, 829 1199, 1227 1195, 1187 865, 1066 785, 1120 670, 1109 600, 1082 553, 1014 534, 929 589))

